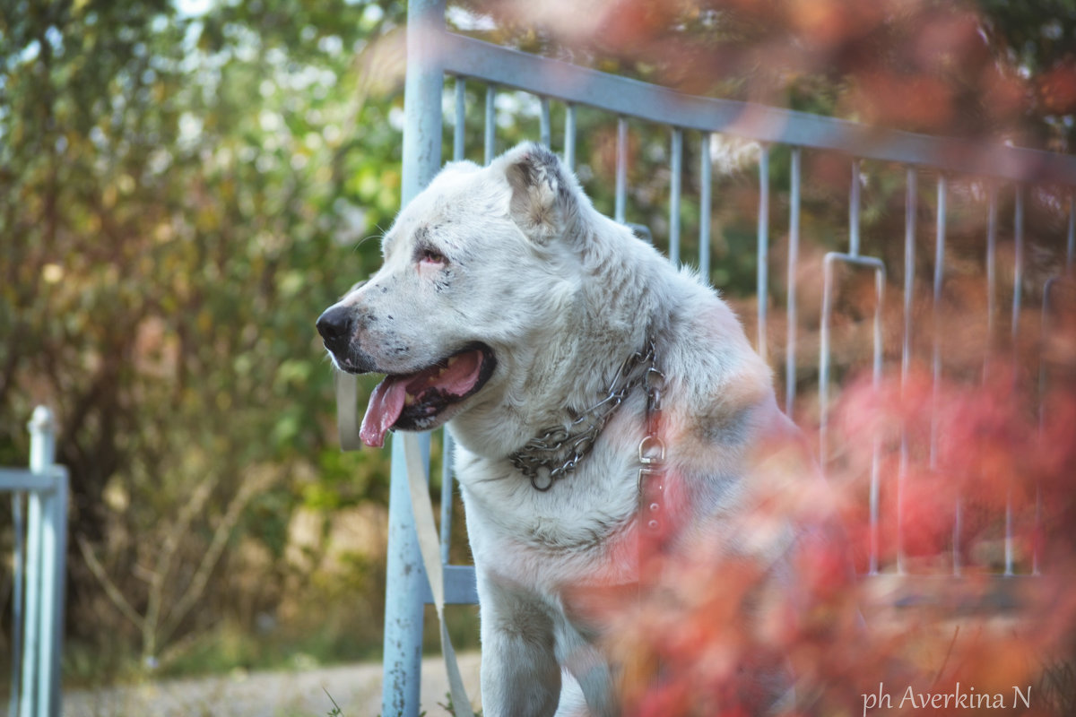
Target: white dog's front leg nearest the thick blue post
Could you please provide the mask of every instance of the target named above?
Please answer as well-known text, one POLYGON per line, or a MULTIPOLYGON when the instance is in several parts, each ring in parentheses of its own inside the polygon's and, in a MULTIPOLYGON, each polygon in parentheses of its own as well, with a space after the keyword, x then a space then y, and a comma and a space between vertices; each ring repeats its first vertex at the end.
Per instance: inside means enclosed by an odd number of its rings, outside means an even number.
POLYGON ((549 608, 523 590, 479 577, 482 714, 550 717, 561 696, 549 608))

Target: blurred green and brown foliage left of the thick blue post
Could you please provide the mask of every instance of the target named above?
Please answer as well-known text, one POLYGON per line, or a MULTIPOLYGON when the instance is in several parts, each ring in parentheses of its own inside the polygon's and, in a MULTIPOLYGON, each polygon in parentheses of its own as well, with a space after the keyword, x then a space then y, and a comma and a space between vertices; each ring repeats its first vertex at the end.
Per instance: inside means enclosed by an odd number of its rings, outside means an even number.
MULTIPOLYGON (((147 618, 166 571, 164 625, 216 532, 279 557, 296 506, 385 493, 385 458, 335 442, 313 321, 373 271, 362 240, 398 209, 404 6, 195 4, 0 14, 0 463, 25 461, 26 418, 53 406, 75 637, 117 622, 80 541, 147 618), (267 465, 232 531, 228 506, 267 465)), ((214 613, 229 596, 198 599, 214 613)))

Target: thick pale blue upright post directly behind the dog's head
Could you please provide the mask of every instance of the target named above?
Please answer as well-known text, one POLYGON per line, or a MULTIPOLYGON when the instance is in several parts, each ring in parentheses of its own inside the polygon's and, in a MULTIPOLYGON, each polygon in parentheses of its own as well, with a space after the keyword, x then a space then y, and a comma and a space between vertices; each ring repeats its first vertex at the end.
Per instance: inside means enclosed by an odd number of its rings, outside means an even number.
MULTIPOLYGON (((431 35, 444 31, 444 0, 412 0, 408 6, 407 77, 400 199, 409 202, 441 164, 441 94, 444 75, 431 35)), ((487 102, 491 94, 487 92, 487 102)), ((487 138, 492 127, 486 127, 487 138)), ((487 149, 489 143, 487 143, 487 149)), ((423 436, 429 459, 429 436, 423 436)), ((411 510, 404 442, 392 440, 388 488, 388 556, 381 714, 417 717, 426 574, 411 510)))

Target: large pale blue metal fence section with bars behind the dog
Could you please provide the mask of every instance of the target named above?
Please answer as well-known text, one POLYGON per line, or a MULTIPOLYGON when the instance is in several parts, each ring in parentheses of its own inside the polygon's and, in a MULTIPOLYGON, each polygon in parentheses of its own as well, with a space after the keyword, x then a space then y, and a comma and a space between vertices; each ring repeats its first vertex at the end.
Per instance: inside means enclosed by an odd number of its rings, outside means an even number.
MULTIPOLYGON (((769 159, 775 147, 782 145, 791 153, 790 206, 788 216, 788 279, 785 285, 788 334, 783 357, 785 377, 784 406, 791 412, 796 399, 797 303, 796 271, 801 261, 801 184, 802 154, 824 150, 847 157, 849 167, 849 246, 846 252, 830 252, 822 261, 823 289, 821 312, 821 345, 818 361, 820 453, 825 460, 825 432, 830 412, 830 391, 834 379, 831 371, 831 321, 833 314, 834 272, 840 264, 865 268, 875 274, 876 304, 873 318, 872 369, 876 382, 881 378, 883 356, 882 306, 886 300, 887 267, 881 257, 863 255, 861 250, 861 177, 864 160, 893 162, 906 168, 906 214, 904 245, 903 333, 901 336, 901 372, 907 376, 911 360, 912 298, 915 293, 915 240, 918 213, 918 180, 923 173, 936 176, 937 200, 935 233, 935 270, 932 299, 936 306, 942 297, 946 267, 947 198, 950 177, 989 177, 989 230, 985 260, 988 274, 990 320, 996 303, 996 235, 999 191, 1015 195, 1013 232, 1015 238, 1015 278, 1011 329, 1019 329, 1021 286, 1023 277, 1023 203, 1025 187, 1051 184, 1068 187, 1068 217, 1065 238, 1064 266, 1071 273, 1076 214, 1071 188, 1076 186, 1076 158, 1010 146, 988 146, 976 142, 943 139, 908 132, 866 127, 851 121, 780 110, 745 102, 686 96, 664 87, 619 77, 594 70, 540 58, 513 49, 449 32, 444 25, 443 0, 415 0, 410 3, 408 18, 407 83, 404 127, 402 201, 407 203, 424 187, 441 167, 442 100, 445 75, 454 83, 455 126, 453 158, 465 154, 466 84, 476 81, 485 86, 484 159, 496 149, 495 100, 498 91, 526 92, 540 103, 539 140, 551 144, 550 104, 563 103, 565 128, 563 156, 569 167, 576 163, 577 107, 586 106, 617 117, 617 170, 614 218, 625 219, 627 198, 628 120, 663 125, 669 131, 669 219, 666 248, 670 260, 681 261, 681 176, 684 144, 696 141, 700 157, 699 235, 697 266, 704 276, 710 273, 710 203, 711 203, 711 134, 721 132, 761 144, 759 158, 759 221, 758 221, 758 340, 756 348, 768 356, 766 346, 767 306, 771 282, 769 264, 769 159)), ((1049 286, 1045 291, 1049 298, 1049 286)), ((992 324, 991 324, 992 327, 992 324)), ((935 382, 940 377, 940 345, 933 340, 931 365, 935 382)), ((348 377, 344 382, 350 381, 348 377)), ((353 410, 353 403, 342 411, 353 410)), ((354 420, 350 421, 354 425, 354 420)), ((345 441, 346 443, 346 441, 345 441)), ((445 451, 451 449, 445 434, 445 451)), ((392 441, 393 469, 390 492, 388 585, 385 613, 384 688, 382 714, 413 717, 419 714, 419 686, 422 648, 423 606, 430 601, 430 590, 422 570, 415 540, 414 518, 410 506, 404 461, 402 441, 392 441)), ((428 460, 429 436, 424 436, 428 460)), ((877 448, 872 468, 869 490, 869 573, 882 569, 900 572, 902 555, 895 565, 879 564, 878 516, 879 477, 877 448)), ((452 476, 445 460, 442 482, 442 561, 445 563, 445 601, 476 601, 475 573, 470 567, 448 565, 448 537, 451 525, 452 476)), ((427 467, 428 472, 428 467, 427 467)), ((1011 550, 1011 506, 1006 516, 1005 574, 1015 572, 1011 550)), ((954 535, 961 520, 958 503, 954 535)), ((952 550, 952 573, 961 571, 958 545, 952 550)), ((1032 572, 1037 570, 1037 554, 1032 572)))

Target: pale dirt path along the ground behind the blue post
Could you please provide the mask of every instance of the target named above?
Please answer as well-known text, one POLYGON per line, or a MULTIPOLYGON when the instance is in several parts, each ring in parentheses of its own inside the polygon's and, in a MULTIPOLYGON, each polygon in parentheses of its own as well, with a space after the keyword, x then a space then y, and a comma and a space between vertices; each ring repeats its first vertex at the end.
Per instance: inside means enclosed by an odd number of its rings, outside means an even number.
MULTIPOLYGON (((478 653, 459 656, 467 693, 478 701, 478 653)), ((422 663, 422 708, 427 717, 449 691, 440 658, 422 663)), ((303 672, 252 672, 240 676, 176 679, 137 687, 72 690, 65 717, 326 717, 332 702, 343 717, 381 712, 381 664, 362 663, 303 672)), ((385 716, 388 717, 388 716, 385 716)))

